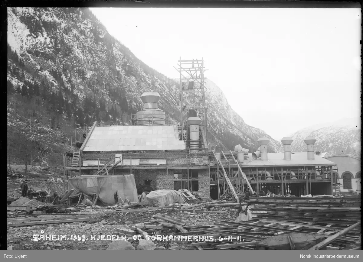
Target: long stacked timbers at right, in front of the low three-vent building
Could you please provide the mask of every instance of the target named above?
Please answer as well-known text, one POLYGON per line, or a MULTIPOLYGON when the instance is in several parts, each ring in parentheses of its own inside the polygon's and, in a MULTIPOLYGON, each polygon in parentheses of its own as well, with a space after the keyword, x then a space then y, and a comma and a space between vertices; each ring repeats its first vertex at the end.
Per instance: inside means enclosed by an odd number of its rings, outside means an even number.
POLYGON ((320 222, 348 226, 360 221, 360 198, 256 198, 252 217, 291 222, 320 222))

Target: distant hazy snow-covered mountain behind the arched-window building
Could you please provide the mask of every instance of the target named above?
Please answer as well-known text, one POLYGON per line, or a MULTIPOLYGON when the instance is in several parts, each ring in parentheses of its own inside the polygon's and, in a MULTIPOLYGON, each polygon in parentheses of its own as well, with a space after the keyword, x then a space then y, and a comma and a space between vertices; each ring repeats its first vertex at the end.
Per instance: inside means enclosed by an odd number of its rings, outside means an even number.
POLYGON ((293 152, 306 151, 306 144, 303 142, 306 136, 314 136, 317 139, 314 148, 321 152, 339 154, 343 151, 350 154, 362 147, 360 118, 344 118, 316 124, 303 128, 291 136, 294 139, 291 144, 293 152))

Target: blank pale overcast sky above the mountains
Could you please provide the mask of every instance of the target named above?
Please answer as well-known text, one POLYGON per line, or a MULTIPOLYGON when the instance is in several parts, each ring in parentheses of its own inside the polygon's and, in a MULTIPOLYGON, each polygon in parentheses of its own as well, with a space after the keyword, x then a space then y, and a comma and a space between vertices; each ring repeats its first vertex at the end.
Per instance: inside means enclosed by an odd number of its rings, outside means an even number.
POLYGON ((90 9, 168 77, 180 57, 203 57, 232 109, 274 139, 360 117, 360 9, 90 9))

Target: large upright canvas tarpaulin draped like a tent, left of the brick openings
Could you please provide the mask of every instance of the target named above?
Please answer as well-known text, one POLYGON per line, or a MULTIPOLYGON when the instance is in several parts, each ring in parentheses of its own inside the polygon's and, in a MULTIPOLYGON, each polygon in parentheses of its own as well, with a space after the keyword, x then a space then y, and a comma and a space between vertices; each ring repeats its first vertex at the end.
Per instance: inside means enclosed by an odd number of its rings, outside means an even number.
POLYGON ((137 202, 137 189, 134 175, 115 176, 79 176, 68 180, 68 191, 74 188, 74 193, 86 196, 98 195, 98 200, 104 205, 113 205, 121 197, 127 197, 131 202, 137 202))

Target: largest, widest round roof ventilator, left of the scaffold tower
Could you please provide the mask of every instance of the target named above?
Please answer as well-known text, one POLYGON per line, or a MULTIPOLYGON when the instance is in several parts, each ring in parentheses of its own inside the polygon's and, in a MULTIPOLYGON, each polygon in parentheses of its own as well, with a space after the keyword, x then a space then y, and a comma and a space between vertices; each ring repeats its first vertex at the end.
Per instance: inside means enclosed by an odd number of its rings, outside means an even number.
POLYGON ((137 125, 164 125, 165 112, 158 109, 160 95, 157 92, 144 92, 141 95, 144 109, 136 112, 135 124, 137 125))

